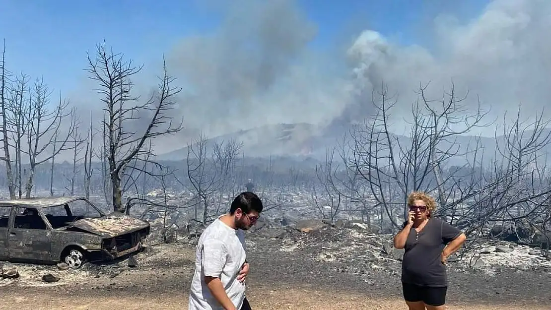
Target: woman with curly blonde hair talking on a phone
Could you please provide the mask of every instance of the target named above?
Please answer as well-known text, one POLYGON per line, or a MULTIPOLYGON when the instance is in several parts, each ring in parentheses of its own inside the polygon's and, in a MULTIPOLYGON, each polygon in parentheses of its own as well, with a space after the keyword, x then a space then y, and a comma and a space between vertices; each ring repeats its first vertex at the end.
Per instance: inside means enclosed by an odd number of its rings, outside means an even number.
POLYGON ((435 219, 434 198, 424 192, 408 196, 408 220, 394 237, 394 247, 405 248, 402 291, 409 310, 444 310, 446 259, 465 242, 464 233, 435 219))

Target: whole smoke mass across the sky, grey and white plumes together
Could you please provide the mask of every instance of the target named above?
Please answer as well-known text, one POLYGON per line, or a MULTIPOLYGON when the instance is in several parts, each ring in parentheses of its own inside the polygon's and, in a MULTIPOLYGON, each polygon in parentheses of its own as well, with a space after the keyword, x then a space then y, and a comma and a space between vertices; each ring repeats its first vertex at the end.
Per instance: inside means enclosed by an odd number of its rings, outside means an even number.
MULTIPOLYGON (((398 95, 392 111, 398 134, 420 84, 430 82, 428 95, 437 100, 453 81, 458 96, 469 92, 464 104, 475 109, 479 99, 490 110, 487 120, 498 123, 519 104, 523 116, 531 117, 551 97, 545 87, 551 78, 548 1, 494 0, 468 20, 450 15, 461 12, 450 2, 427 1, 429 21, 412 25, 422 32, 424 46, 364 29, 325 49, 314 46, 318 25, 296 1, 207 3, 222 14, 222 23, 183 37, 165 52, 169 73, 183 87, 178 113, 185 130, 156 141, 157 153, 181 148, 201 132, 215 137, 278 123, 310 123, 318 132, 330 126, 338 137, 337 130, 369 117, 371 90, 383 81, 398 95)), ((159 59, 146 63, 148 77, 137 81, 147 85, 137 87, 144 97, 157 67, 159 59)), ((481 130, 494 134, 494 128, 481 130)))

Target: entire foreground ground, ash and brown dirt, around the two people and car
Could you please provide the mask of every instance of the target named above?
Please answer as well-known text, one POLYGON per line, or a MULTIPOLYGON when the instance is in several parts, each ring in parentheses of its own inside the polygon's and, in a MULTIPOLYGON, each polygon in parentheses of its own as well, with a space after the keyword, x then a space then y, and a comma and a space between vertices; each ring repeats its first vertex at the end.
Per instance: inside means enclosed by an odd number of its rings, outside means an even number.
MULTIPOLYGON (((248 298, 259 310, 406 309, 401 253, 388 246, 391 237, 331 226, 248 233, 248 298)), ((0 309, 186 309, 195 248, 187 236, 178 239, 149 244, 134 259, 75 270, 5 263, 4 273, 17 269, 19 276, 0 281, 0 309)), ((449 263, 449 309, 551 309, 549 259, 488 242, 449 263)))

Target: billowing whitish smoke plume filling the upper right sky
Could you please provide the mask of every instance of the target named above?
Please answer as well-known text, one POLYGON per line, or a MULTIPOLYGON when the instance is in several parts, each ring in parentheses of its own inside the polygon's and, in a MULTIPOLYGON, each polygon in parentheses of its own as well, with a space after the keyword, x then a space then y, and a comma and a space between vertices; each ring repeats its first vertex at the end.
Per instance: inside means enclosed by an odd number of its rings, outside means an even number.
POLYGON ((356 85, 361 85, 357 87, 369 90, 384 80, 399 94, 398 114, 408 113, 419 84, 430 81, 429 93, 437 99, 453 81, 461 94, 469 91, 465 104, 473 109, 478 95, 482 107, 491 109, 491 117, 515 113, 518 104, 530 117, 551 97, 545 86, 551 78, 550 16, 548 1, 495 0, 466 24, 445 16, 435 19, 435 51, 392 46, 367 30, 348 56, 355 62, 356 85))

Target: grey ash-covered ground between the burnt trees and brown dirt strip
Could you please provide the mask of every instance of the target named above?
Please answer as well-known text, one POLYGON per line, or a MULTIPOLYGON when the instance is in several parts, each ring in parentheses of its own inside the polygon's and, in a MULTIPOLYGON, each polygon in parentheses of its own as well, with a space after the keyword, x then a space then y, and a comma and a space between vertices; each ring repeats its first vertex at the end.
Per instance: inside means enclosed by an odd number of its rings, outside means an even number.
MULTIPOLYGON (((155 237, 156 230, 152 243, 155 237)), ((129 264, 128 259, 106 265, 87 264, 77 270, 4 263, 4 273, 17 268, 19 277, 1 280, 0 289, 8 298, 41 295, 50 299, 67 296, 96 300, 113 296, 185 299, 195 247, 190 236, 175 239, 175 243, 150 244, 134 256, 137 266, 133 267, 129 265, 134 262, 130 260, 129 264), (59 280, 46 282, 42 279, 45 274, 59 280)), ((247 280, 250 294, 260 300, 259 296, 278 290, 323 292, 320 296, 345 292, 371 300, 402 298, 399 285, 402 253, 391 247, 392 235, 377 235, 363 225, 344 228, 303 221, 289 227, 266 225, 247 233, 246 240, 251 262, 247 280)), ((448 302, 513 303, 547 309, 551 302, 549 258, 538 248, 479 241, 450 259, 448 302)), ((182 300, 182 307, 185 304, 187 300, 182 300)), ((266 306, 266 309, 279 308, 266 306)))

